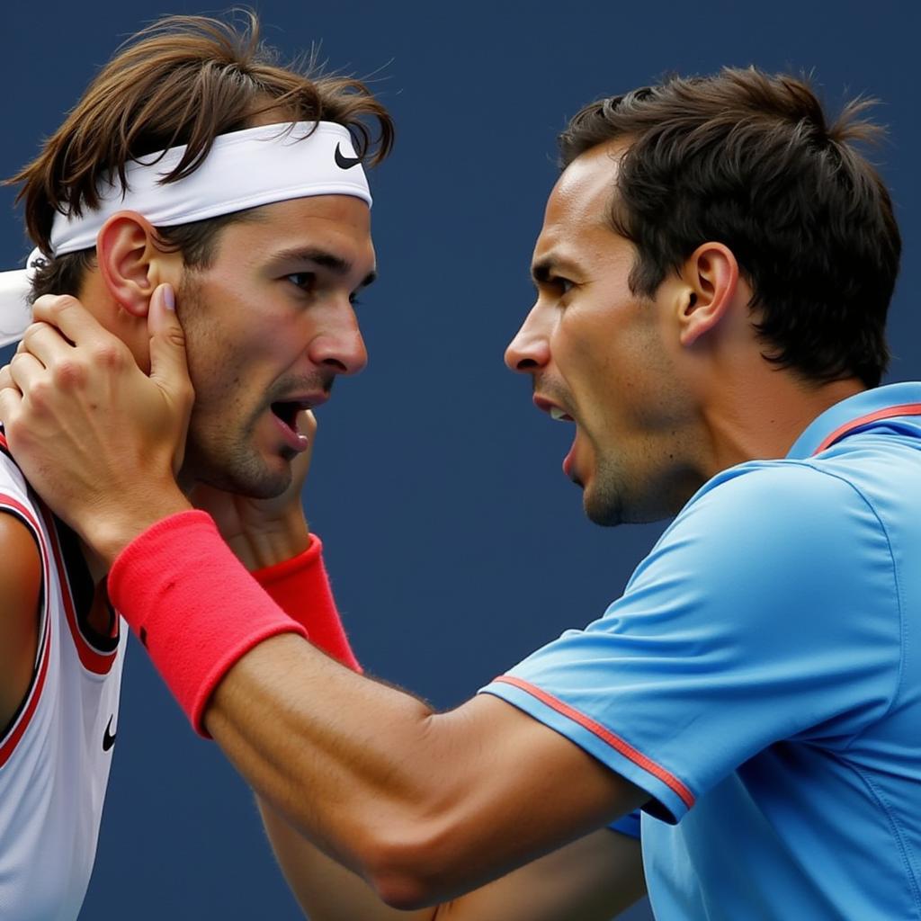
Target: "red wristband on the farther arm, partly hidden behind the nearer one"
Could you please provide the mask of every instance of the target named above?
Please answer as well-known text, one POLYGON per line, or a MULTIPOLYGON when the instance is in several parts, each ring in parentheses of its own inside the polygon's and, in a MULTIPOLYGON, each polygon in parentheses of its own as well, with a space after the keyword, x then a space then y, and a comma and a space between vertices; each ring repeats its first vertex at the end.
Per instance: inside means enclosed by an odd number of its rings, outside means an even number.
POLYGON ((338 659, 346 668, 360 673, 361 666, 336 611, 322 554, 320 538, 311 534, 309 547, 302 554, 284 563, 257 569, 252 577, 289 617, 307 628, 314 646, 338 659))

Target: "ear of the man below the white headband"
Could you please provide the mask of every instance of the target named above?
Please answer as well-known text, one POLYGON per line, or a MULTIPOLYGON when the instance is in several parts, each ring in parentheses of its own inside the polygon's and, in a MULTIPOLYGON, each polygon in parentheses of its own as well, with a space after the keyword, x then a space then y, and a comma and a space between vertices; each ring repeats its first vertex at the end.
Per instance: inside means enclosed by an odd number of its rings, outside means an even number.
POLYGON ((157 285, 179 280, 180 254, 158 247, 157 231, 134 211, 120 211, 102 225, 96 255, 112 299, 134 317, 146 317, 157 285))

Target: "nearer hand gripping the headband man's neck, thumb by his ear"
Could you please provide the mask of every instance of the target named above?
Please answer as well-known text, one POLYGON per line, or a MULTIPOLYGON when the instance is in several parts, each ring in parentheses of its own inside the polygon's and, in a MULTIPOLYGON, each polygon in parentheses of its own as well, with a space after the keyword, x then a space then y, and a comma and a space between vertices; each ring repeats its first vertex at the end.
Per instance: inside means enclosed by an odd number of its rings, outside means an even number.
POLYGON ((166 285, 150 302, 151 371, 74 297, 40 297, 0 369, 0 417, 29 483, 111 560, 158 519, 189 508, 174 474, 192 411, 185 337, 166 285))

